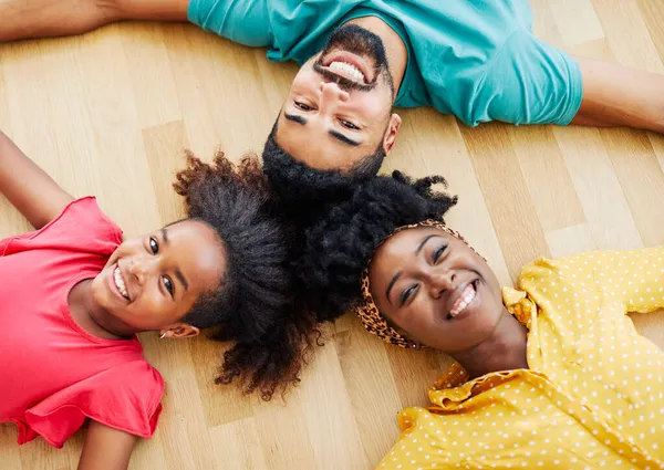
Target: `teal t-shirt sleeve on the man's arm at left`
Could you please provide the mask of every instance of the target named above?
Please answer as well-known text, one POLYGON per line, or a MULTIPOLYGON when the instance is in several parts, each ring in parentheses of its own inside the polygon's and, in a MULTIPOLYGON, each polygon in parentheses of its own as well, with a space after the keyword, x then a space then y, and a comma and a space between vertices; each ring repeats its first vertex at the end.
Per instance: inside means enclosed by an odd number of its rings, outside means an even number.
POLYGON ((206 31, 253 48, 271 44, 268 0, 190 0, 187 17, 206 31))

